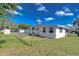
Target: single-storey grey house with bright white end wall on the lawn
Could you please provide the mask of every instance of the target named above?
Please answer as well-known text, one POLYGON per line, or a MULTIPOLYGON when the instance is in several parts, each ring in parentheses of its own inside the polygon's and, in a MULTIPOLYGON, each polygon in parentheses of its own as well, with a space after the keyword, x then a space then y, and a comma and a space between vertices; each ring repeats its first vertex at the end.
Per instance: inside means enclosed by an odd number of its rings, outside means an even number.
POLYGON ((67 28, 60 25, 36 25, 32 28, 32 33, 45 38, 62 38, 67 35, 67 28))

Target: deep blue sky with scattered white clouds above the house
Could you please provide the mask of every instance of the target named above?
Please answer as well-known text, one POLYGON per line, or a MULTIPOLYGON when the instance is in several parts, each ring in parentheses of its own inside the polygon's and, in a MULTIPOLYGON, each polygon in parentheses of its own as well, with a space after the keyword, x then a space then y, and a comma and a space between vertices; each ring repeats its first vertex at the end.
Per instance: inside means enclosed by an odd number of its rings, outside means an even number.
POLYGON ((23 3, 17 6, 15 14, 9 19, 16 24, 71 25, 79 15, 79 4, 23 3))

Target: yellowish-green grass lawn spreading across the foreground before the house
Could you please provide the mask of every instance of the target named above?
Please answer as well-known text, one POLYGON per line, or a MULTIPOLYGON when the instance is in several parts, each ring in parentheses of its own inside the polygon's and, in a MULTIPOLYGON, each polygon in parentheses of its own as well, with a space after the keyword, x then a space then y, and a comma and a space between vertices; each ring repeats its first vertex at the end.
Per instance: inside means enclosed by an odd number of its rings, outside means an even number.
POLYGON ((15 34, 0 34, 0 55, 9 56, 55 56, 79 55, 79 37, 68 36, 61 39, 46 39, 24 36, 17 39, 15 34), (32 44, 32 45, 29 45, 32 44))

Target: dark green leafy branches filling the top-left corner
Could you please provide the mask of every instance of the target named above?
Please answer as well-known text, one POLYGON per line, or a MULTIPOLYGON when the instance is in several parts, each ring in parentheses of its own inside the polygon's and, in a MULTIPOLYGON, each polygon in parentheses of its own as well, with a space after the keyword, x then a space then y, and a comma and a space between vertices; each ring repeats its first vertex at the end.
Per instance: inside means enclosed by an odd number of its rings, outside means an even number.
POLYGON ((7 11, 6 10, 15 10, 18 4, 14 3, 1 3, 0 4, 0 16, 4 16, 7 11))

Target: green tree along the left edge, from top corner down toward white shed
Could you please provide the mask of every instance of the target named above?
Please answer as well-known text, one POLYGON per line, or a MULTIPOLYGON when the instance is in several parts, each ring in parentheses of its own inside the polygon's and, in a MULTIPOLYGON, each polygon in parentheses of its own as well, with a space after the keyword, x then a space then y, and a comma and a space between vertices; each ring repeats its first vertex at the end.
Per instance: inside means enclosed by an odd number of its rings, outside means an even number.
POLYGON ((9 28, 8 24, 5 24, 4 20, 7 19, 9 10, 16 10, 18 4, 14 3, 1 3, 0 4, 0 25, 9 28))

